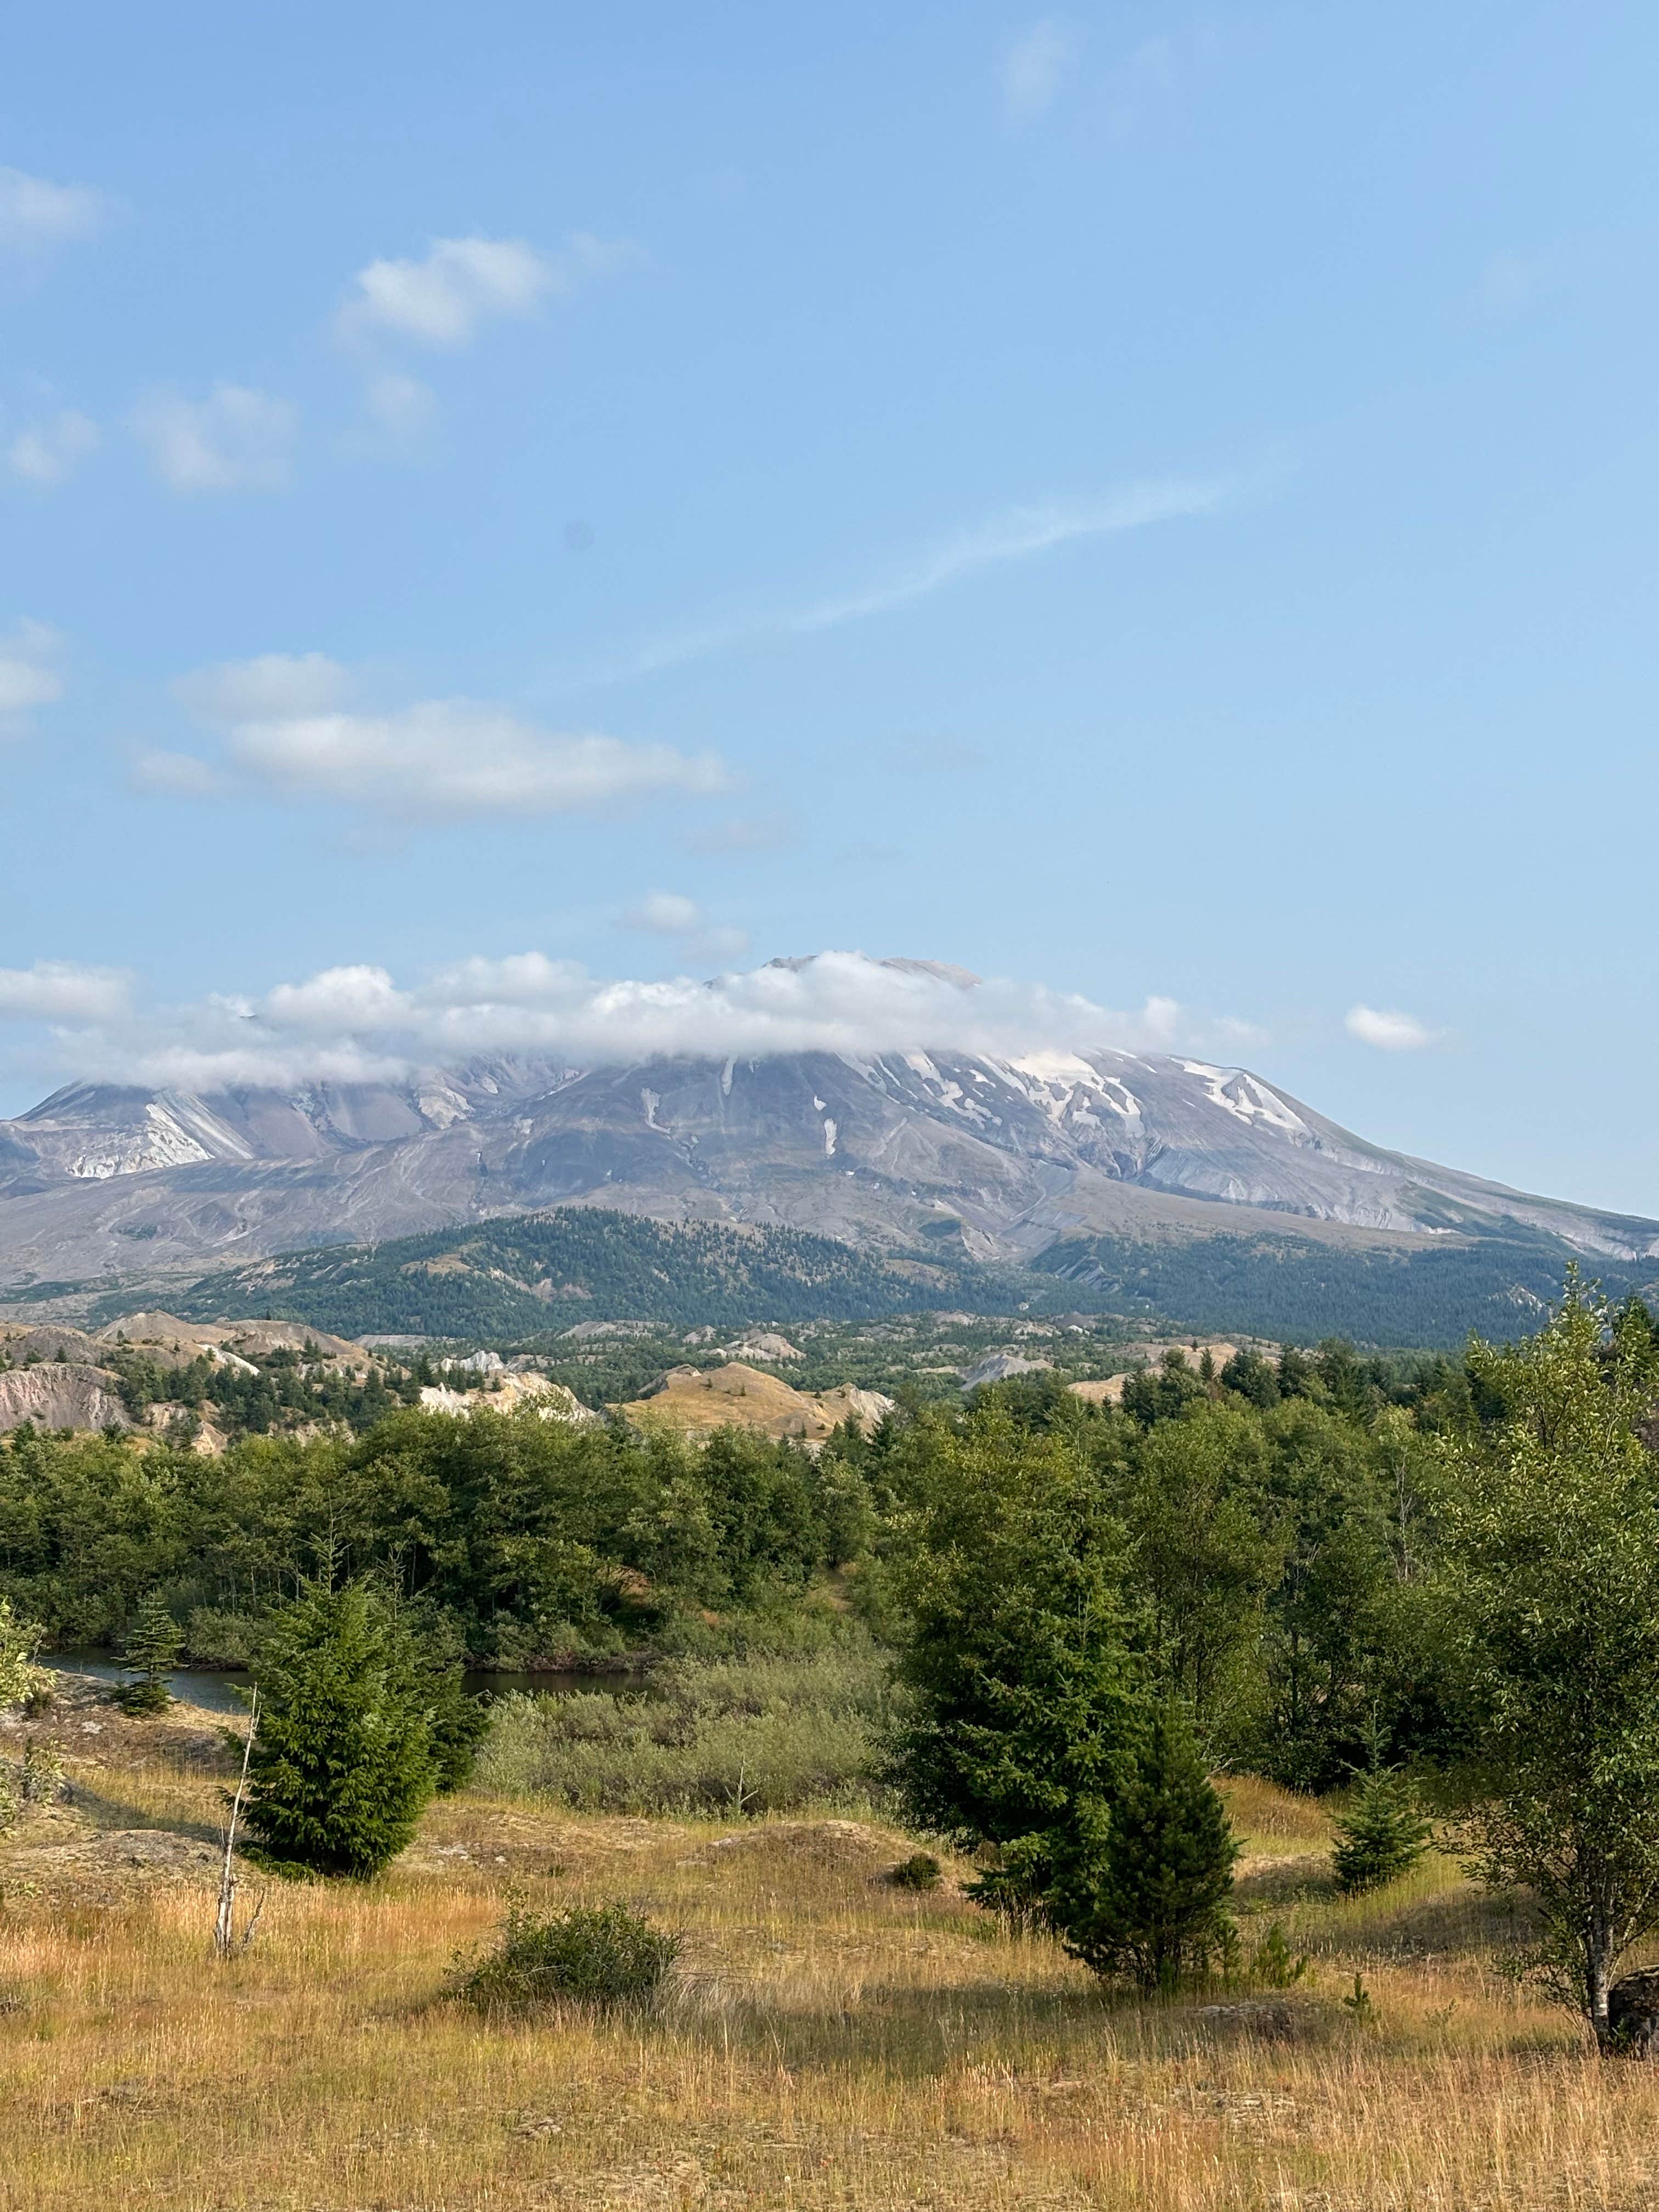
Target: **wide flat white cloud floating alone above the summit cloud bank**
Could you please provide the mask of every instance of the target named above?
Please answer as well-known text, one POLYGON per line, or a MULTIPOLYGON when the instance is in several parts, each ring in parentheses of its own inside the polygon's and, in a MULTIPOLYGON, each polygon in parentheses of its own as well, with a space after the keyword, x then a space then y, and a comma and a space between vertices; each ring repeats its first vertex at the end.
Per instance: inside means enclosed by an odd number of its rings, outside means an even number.
MULTIPOLYGON (((732 783, 712 752, 538 730, 478 699, 349 712, 349 672, 323 653, 268 653, 181 677, 175 692, 195 714, 228 726, 223 761, 241 781, 405 821, 588 814, 668 794, 706 796, 732 783)), ((186 754, 159 761, 150 783, 215 787, 215 763, 190 770, 186 754)))

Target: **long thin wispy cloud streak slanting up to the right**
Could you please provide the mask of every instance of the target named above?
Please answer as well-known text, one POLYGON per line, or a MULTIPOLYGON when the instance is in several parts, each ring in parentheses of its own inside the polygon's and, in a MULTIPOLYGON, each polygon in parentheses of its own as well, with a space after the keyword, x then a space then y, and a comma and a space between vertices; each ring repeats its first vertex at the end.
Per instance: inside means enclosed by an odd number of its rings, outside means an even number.
POLYGON ((874 615, 889 615, 984 568, 1031 560, 1033 555, 1051 553, 1057 546, 1077 544, 1088 538, 1139 531, 1152 522, 1214 513, 1228 500, 1230 491, 1232 484, 1221 478, 1194 478, 1133 484, 1126 491, 1115 491, 1097 500, 1044 500, 1033 507, 1015 507, 973 529, 958 531, 953 538, 845 595, 814 599, 807 606, 783 613, 757 613, 703 628, 670 630, 641 646, 633 657, 604 670, 599 681, 604 677, 633 677, 650 675, 657 668, 677 668, 684 661, 708 659, 752 639, 807 637, 816 630, 834 630, 845 622, 867 622, 874 615))

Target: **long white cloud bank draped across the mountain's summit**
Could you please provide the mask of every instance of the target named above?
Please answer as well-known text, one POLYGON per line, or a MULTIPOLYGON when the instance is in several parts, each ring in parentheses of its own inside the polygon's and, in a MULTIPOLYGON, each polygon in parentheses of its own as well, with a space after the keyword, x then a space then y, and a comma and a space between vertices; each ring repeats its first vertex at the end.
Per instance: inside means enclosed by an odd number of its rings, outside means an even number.
POLYGON ((529 951, 462 960, 418 984, 398 984, 380 967, 336 967, 263 998, 139 1011, 128 1006, 122 978, 106 971, 58 964, 33 973, 49 984, 18 987, 15 1011, 51 1009, 73 1024, 60 1053, 75 1073, 184 1088, 376 1079, 491 1051, 546 1053, 571 1066, 657 1053, 953 1048, 1029 1057, 1093 1046, 1168 1051, 1206 1035, 1172 1000, 1113 1013, 1042 984, 978 982, 960 969, 863 953, 768 962, 712 982, 637 982, 529 951))

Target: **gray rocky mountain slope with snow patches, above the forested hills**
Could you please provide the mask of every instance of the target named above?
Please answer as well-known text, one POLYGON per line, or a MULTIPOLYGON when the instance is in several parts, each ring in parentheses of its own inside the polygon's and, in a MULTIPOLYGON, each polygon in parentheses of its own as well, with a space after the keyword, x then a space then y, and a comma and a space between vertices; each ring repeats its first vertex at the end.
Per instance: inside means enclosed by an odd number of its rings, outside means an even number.
POLYGON ((166 1279, 562 1203, 1000 1261, 1091 1232, 1239 1230, 1659 1254, 1655 1221, 1387 1152, 1243 1068, 1119 1051, 489 1060, 292 1093, 75 1084, 0 1121, 11 1285, 166 1279))

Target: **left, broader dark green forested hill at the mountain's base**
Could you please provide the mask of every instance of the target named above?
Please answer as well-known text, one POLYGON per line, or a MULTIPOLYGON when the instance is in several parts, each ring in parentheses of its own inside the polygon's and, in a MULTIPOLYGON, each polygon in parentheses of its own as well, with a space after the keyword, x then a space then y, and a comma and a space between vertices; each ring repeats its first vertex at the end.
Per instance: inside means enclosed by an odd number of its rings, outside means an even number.
POLYGON ((964 1263, 874 1259, 803 1230, 568 1206, 396 1243, 290 1252, 208 1274, 175 1303, 186 1318, 270 1314, 338 1336, 511 1338, 575 1321, 874 1321, 918 1305, 980 1305, 995 1281, 964 1263))

